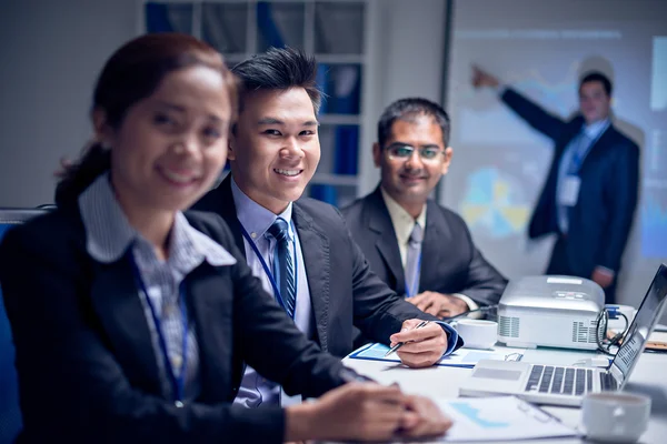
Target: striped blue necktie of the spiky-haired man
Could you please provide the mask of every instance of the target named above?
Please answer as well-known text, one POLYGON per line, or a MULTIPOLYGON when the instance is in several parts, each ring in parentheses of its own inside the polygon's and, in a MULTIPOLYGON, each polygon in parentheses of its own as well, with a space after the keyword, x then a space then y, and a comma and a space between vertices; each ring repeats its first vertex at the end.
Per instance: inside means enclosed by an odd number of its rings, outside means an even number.
POLYGON ((295 286, 295 264, 289 249, 289 225, 285 219, 278 218, 267 231, 276 239, 273 275, 276 276, 276 281, 278 281, 280 297, 285 304, 285 311, 290 317, 293 317, 297 289, 295 286))

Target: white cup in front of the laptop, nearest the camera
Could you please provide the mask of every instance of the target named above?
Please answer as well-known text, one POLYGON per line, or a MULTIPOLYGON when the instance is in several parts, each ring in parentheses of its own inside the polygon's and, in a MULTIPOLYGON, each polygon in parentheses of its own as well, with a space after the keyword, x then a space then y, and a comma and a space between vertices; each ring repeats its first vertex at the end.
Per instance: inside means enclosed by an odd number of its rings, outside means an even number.
POLYGON ((625 392, 590 393, 581 403, 587 438, 604 443, 635 443, 646 432, 650 397, 625 392))

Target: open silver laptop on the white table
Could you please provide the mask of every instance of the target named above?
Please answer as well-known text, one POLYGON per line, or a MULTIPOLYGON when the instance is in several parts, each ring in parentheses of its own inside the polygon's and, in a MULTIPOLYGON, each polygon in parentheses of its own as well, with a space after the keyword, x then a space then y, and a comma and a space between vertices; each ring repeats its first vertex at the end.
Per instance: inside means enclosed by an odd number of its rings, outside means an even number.
POLYGON ((459 394, 511 394, 538 404, 578 406, 587 393, 623 390, 660 319, 666 295, 667 266, 661 264, 608 370, 484 360, 459 394))

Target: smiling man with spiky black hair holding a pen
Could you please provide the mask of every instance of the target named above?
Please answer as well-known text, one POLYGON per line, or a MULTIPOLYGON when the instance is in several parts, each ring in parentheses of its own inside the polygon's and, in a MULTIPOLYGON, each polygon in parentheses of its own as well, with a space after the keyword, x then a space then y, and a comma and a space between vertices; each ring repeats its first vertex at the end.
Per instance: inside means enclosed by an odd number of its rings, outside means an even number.
MULTIPOLYGON (((195 208, 220 214, 265 289, 323 351, 352 351, 354 326, 375 342, 414 341, 399 350, 410 366, 427 366, 460 346, 456 331, 406 303, 371 271, 331 205, 300 199, 319 163, 315 60, 271 49, 233 68, 239 117, 228 159, 231 173, 195 208)), ((286 402, 280 387, 246 371, 237 402, 286 402)))

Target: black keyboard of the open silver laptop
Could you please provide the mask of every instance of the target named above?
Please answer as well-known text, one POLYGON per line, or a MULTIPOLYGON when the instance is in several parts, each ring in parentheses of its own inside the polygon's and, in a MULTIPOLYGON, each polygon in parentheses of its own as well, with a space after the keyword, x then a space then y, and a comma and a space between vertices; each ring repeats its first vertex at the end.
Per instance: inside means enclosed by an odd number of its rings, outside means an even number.
MULTIPOLYGON (((601 373, 603 384, 614 384, 616 381, 609 373, 601 373), (606 376, 606 377, 605 377, 606 376)), ((555 393, 563 395, 583 395, 593 390, 593 370, 570 369, 552 365, 534 365, 526 384, 526 392, 555 393)), ((616 390, 616 389, 603 389, 616 390)))

